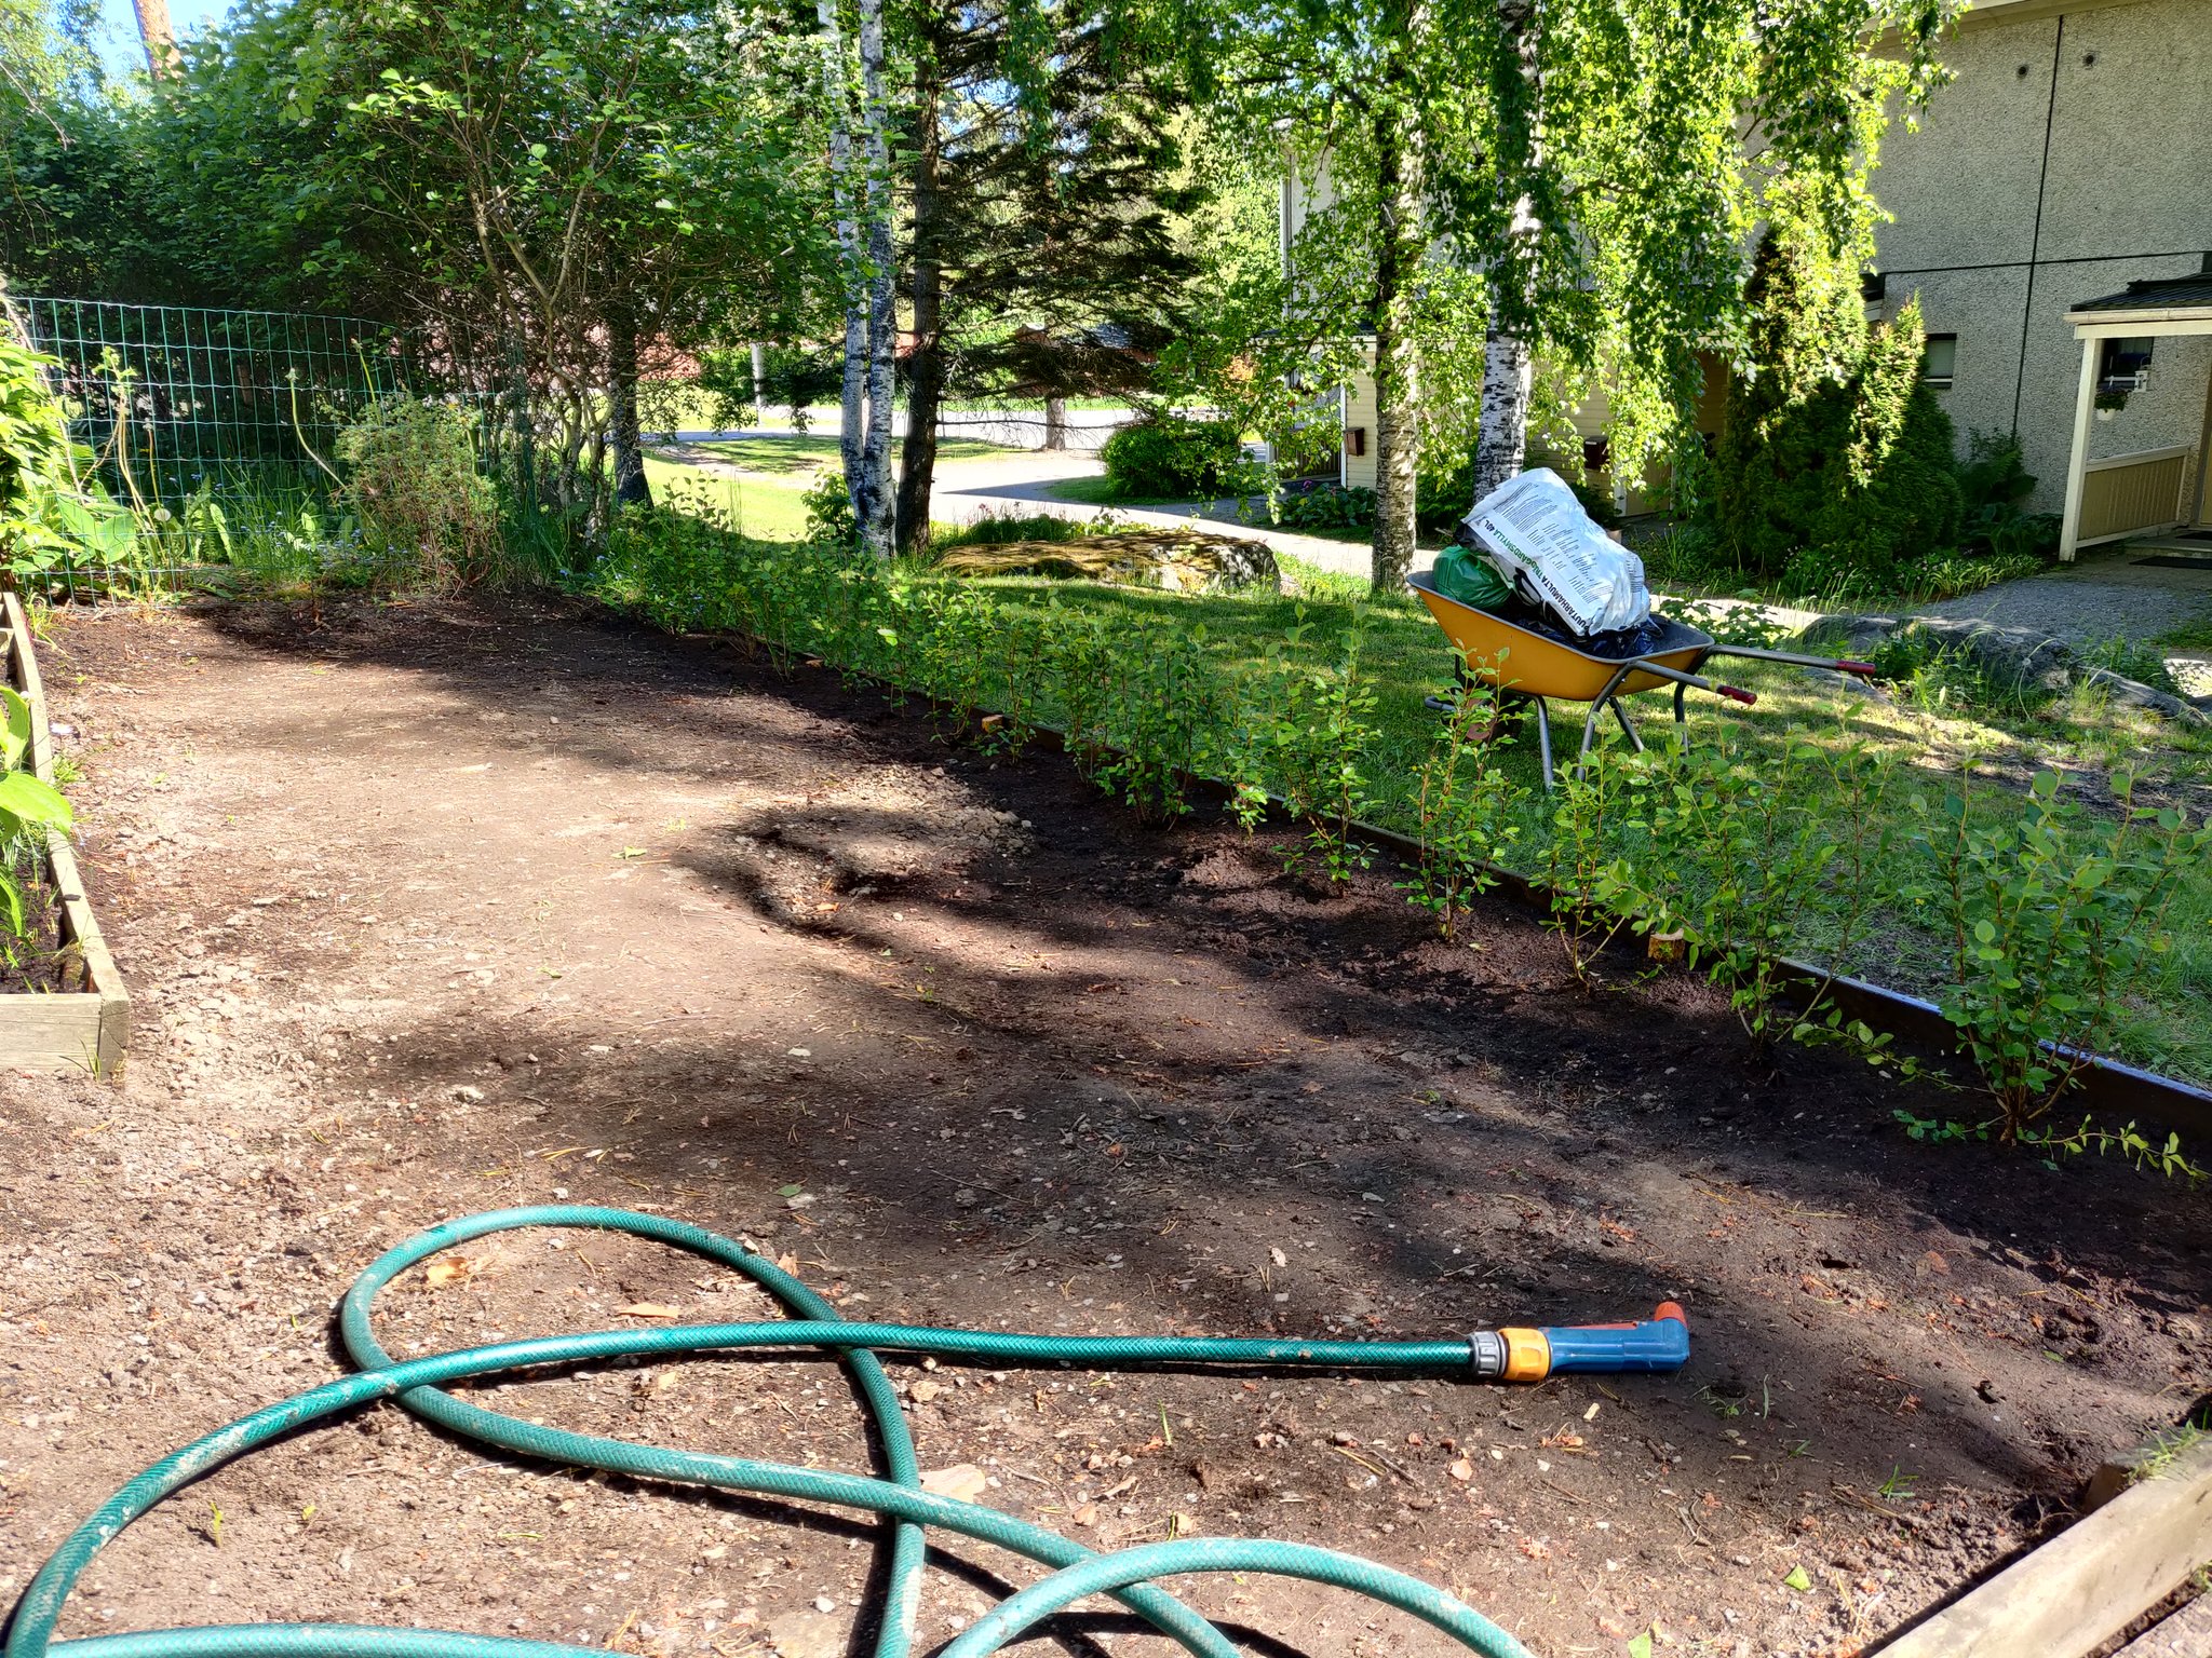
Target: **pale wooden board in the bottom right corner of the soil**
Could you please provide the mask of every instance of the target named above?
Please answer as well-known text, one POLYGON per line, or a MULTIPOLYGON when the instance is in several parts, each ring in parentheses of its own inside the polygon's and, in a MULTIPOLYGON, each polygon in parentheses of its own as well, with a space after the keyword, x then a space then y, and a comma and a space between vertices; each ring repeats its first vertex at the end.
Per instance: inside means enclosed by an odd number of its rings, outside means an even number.
POLYGON ((2212 1561, 2212 1437, 1997 1576, 1871 1647, 1878 1658, 2081 1658, 2212 1561))

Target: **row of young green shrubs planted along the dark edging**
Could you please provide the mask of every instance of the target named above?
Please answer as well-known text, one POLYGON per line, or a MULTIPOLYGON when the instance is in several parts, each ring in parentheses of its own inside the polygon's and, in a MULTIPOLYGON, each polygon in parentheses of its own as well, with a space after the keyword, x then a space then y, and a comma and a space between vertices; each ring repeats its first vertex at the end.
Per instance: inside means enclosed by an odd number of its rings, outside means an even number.
MULTIPOLYGON (((1376 809, 1376 690, 1358 610, 1334 659, 1298 623, 1256 661, 1203 626, 1104 621, 821 542, 743 542, 692 511, 626 513, 595 573, 597 592, 670 630, 728 628, 774 661, 818 657, 933 699, 962 732, 1018 747, 1057 725, 1075 765, 1152 822, 1192 809, 1192 783, 1230 787, 1259 829, 1272 800, 1296 825, 1285 869, 1327 882, 1365 867, 1360 820, 1376 809)), ((1509 699, 1467 683, 1418 763, 1418 867, 1402 891, 1453 937, 1475 893, 1528 827, 1528 789, 1504 765, 1509 699)), ((1867 940, 1940 962, 1940 1004, 1958 1052, 1997 1114, 1916 1132, 1995 1134, 2046 1150, 2124 1150, 2170 1169, 2174 1147, 2084 1130, 2048 1114, 2090 1052, 2166 964, 2166 911, 2212 831, 2135 802, 2112 780, 2106 811, 2066 800, 2042 774, 2020 802, 1966 778, 1931 780, 1847 725, 1752 752, 1728 727, 1690 747, 1601 745, 1559 776, 1544 831, 1522 862, 1553 893, 1553 928, 1586 979, 1619 935, 1679 935, 1721 984, 1754 1050, 1781 1037, 1847 1041, 1889 1063, 1889 1039, 1845 1021, 1825 986, 1805 995, 1781 964, 1820 940, 1832 962, 1867 940), (1940 787, 1936 787, 1940 783, 1940 787)))

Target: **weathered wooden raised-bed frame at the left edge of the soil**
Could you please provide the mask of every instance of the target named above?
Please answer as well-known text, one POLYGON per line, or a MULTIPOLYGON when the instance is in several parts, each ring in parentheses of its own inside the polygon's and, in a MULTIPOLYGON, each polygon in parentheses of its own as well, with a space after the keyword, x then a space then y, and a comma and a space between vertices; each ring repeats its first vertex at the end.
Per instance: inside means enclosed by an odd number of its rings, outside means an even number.
MULTIPOLYGON (((0 595, 0 628, 7 632, 7 679, 31 705, 31 769, 53 783, 46 688, 31 652, 31 621, 13 592, 0 595)), ((60 906, 62 984, 71 988, 0 995, 0 1066, 113 1077, 131 1046, 131 995, 84 898, 69 836, 60 829, 46 833, 46 875, 60 906)))

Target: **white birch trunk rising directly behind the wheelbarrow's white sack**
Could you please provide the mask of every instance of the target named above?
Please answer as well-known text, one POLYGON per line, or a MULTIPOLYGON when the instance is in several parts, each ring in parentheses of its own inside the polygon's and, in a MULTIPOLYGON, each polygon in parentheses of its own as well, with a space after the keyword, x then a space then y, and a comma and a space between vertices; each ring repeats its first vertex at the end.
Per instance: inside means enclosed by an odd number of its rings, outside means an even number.
POLYGON ((1506 69, 1498 75, 1498 179, 1511 197, 1504 256, 1491 265, 1491 327, 1482 347, 1482 422, 1475 433, 1475 500, 1528 460, 1533 298, 1544 223, 1533 181, 1544 168, 1544 69, 1535 0, 1498 0, 1506 69))

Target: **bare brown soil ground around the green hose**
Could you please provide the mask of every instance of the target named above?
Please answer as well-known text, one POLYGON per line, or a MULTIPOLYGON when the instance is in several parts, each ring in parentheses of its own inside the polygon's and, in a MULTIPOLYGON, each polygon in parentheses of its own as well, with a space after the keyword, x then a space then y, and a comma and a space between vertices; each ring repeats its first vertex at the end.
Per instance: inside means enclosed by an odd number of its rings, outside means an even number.
MULTIPOLYGON (((119 1088, 0 1077, 0 1596, 161 1450, 338 1373, 330 1309, 372 1256, 562 1196, 748 1236, 885 1320, 1438 1335, 1679 1298, 1694 1355, 1661 1379, 896 1371, 925 1466, 980 1466, 987 1501, 1097 1545, 1356 1550, 1542 1654, 1652 1625, 1659 1651, 1851 1651, 2208 1386, 2201 1194, 1913 1145, 1891 1108, 1940 1101, 1823 1054, 1750 1070, 1686 975, 1584 995, 1504 909, 1444 946, 1387 871, 1316 893, 827 672, 529 604, 73 612, 44 670, 139 1028, 119 1088)), ((522 1234, 409 1276, 385 1326, 414 1353, 637 1302, 761 1307, 522 1234)), ((867 1459, 821 1364, 498 1391, 867 1459)), ((64 1634, 814 1658, 867 1634, 872 1539, 380 1408, 139 1523, 64 1634)), ((931 1638, 1029 1576, 940 1559, 931 1638)), ((1442 1649, 1325 1589, 1190 1598, 1276 1654, 1442 1649)), ((1055 1643, 1164 1651, 1106 1612, 1055 1643)))

